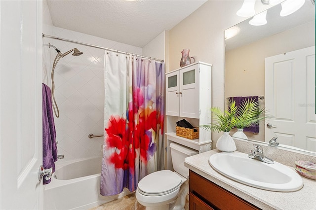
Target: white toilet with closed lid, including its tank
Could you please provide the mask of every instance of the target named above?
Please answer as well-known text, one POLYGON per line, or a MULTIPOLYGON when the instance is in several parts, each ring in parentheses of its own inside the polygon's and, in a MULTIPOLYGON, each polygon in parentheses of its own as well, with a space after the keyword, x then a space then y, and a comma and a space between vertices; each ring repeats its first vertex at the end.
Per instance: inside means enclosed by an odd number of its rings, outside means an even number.
POLYGON ((189 169, 184 159, 198 152, 174 142, 170 143, 170 151, 174 172, 154 172, 138 182, 136 199, 146 210, 184 210, 189 193, 189 169))

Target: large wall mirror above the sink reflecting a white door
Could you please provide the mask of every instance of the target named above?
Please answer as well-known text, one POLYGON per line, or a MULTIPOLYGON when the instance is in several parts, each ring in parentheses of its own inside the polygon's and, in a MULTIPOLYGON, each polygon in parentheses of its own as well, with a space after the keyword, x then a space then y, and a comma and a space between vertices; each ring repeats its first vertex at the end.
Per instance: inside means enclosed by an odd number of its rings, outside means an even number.
POLYGON ((268 143, 269 132, 273 131, 280 146, 315 153, 315 5, 306 0, 299 10, 285 17, 280 16, 281 9, 281 4, 269 8, 265 25, 250 25, 249 18, 225 31, 225 36, 230 30, 238 32, 231 38, 225 37, 225 99, 264 96, 259 105, 266 107, 272 118, 260 122, 259 133, 244 132, 248 140, 268 143), (298 59, 291 55, 302 49, 312 49, 312 53, 309 51, 304 57, 305 66, 297 68, 298 59), (281 60, 274 59, 275 56, 281 60), (312 70, 307 72, 308 68, 312 70), (303 80, 296 84, 299 77, 303 80), (301 91, 295 92, 297 87, 301 91), (297 97, 303 95, 305 98, 297 97), (307 126, 295 124, 297 115, 303 116, 307 126), (288 124, 278 124, 281 122, 288 124), (289 124, 293 123, 291 127, 289 124), (276 130, 281 127, 290 131, 276 130))

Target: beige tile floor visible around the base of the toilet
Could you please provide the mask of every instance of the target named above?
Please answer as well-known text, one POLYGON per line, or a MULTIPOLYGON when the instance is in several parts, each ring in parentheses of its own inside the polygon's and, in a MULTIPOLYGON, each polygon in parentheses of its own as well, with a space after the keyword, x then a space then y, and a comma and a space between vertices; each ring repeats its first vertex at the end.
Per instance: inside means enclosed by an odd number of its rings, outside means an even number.
MULTIPOLYGON (((103 204, 90 210, 145 210, 146 208, 140 205, 135 197, 135 193, 126 195, 117 200, 103 204)), ((185 210, 189 210, 189 202, 187 200, 185 210)))

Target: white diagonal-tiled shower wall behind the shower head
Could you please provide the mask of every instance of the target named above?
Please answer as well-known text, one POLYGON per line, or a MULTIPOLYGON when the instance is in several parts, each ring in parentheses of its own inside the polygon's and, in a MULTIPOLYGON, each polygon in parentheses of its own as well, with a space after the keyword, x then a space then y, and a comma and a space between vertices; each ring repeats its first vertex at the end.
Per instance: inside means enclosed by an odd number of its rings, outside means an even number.
MULTIPOLYGON (((58 27, 53 27, 53 34, 47 35, 142 55, 140 47, 58 27)), ((50 87, 52 63, 57 52, 48 48, 48 42, 62 53, 73 48, 83 52, 80 56, 69 54, 61 58, 54 72, 55 98, 60 112, 60 117, 55 117, 56 140, 58 154, 65 155, 60 161, 102 155, 103 138, 89 139, 88 134, 103 134, 104 129, 104 50, 44 38, 43 59, 47 78, 43 82, 50 87)))

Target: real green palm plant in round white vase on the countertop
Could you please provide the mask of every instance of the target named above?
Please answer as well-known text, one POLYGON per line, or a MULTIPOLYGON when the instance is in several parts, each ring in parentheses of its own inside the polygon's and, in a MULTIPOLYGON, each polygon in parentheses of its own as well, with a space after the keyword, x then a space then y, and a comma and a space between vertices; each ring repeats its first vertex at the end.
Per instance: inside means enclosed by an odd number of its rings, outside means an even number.
POLYGON ((222 152, 234 152, 236 148, 235 141, 229 135, 229 132, 236 125, 237 106, 235 101, 228 100, 228 110, 222 112, 219 107, 212 107, 212 119, 215 121, 210 125, 200 125, 201 128, 224 132, 224 134, 217 140, 216 147, 222 152))

